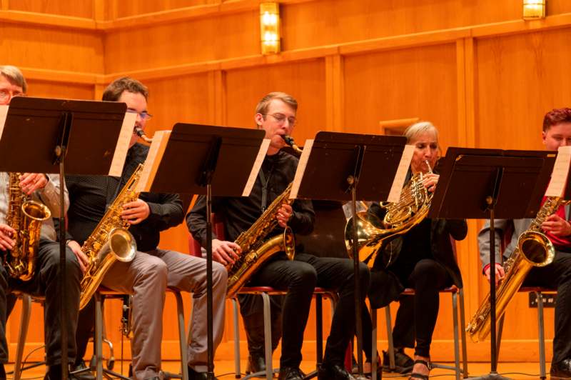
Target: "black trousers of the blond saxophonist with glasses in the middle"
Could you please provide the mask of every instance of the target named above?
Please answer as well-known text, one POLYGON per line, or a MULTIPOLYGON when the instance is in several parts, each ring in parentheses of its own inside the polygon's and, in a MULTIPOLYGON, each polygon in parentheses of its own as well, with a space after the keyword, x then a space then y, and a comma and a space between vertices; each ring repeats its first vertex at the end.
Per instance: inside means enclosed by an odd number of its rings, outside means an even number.
MULTIPOLYGON (((283 300, 283 338, 281 368, 298 367, 301 363, 303 331, 307 324, 311 297, 315 286, 337 289, 339 302, 333 314, 330 334, 325 346, 324 364, 343 365, 345 350, 355 334, 355 286, 353 261, 296 254, 295 260, 277 259, 268 262, 252 276, 250 285, 266 285, 286 289, 283 300)), ((360 264, 362 300, 369 282, 369 271, 360 264)), ((260 311, 261 312, 261 311, 260 311)))

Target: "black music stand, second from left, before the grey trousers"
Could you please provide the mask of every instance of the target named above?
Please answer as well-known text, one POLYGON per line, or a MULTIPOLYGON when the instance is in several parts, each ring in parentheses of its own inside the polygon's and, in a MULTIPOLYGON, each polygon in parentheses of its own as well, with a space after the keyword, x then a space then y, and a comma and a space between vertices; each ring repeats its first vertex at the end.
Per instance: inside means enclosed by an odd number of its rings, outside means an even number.
MULTIPOLYGON (((173 127, 150 191, 206 195, 206 283, 208 315, 208 379, 214 378, 212 321, 212 196, 248 196, 248 179, 265 132, 177 123, 173 127)), ((263 156, 266 151, 263 151, 263 156)), ((262 157, 263 157, 262 156, 262 157)))

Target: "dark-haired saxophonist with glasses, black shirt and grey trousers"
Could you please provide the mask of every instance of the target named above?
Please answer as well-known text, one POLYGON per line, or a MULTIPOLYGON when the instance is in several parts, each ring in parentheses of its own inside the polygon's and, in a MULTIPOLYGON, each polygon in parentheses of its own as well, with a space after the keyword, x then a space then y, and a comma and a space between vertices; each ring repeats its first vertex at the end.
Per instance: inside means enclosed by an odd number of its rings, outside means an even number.
MULTIPOLYGON (((103 93, 104 100, 125 102, 127 111, 137 114, 136 128, 143 130, 146 121, 151 118, 147 112, 147 97, 146 86, 131 78, 114 81, 103 93)), ((148 146, 136 141, 137 136, 133 134, 121 178, 66 177, 70 198, 68 245, 81 259, 82 266, 87 264, 87 258, 81 251, 81 244, 95 229, 106 208, 113 203, 138 164, 146 159, 148 146)), ((161 376, 163 306, 167 286, 193 293, 188 371, 190 379, 206 379, 206 260, 158 248, 160 231, 183 221, 181 199, 176 194, 141 193, 136 201, 121 207, 121 216, 131 224, 129 231, 136 239, 138 251, 133 261, 113 264, 102 284, 109 289, 133 295, 133 379, 159 379, 161 376)), ((226 283, 226 269, 221 264, 213 263, 215 346, 218 346, 223 334, 226 283)), ((86 306, 81 311, 80 326, 82 328, 77 338, 81 355, 76 364, 81 367, 93 326, 93 306, 86 306)))

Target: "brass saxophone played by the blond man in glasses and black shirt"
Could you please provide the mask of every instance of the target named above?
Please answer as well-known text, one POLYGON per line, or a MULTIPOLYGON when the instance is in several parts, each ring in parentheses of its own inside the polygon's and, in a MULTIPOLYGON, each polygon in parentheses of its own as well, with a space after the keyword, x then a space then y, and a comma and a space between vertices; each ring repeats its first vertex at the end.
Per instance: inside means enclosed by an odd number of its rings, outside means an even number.
MULTIPOLYGON (((290 136, 284 136, 284 140, 295 151, 301 151, 290 136)), ((293 260, 293 256, 295 256, 295 237, 290 227, 285 227, 283 234, 264 241, 266 236, 278 225, 276 216, 281 206, 293 203, 293 200, 290 199, 292 185, 293 182, 285 188, 282 194, 273 200, 268 209, 252 224, 248 231, 242 232, 234 241, 242 249, 242 254, 234 261, 234 264, 226 266, 228 271, 227 298, 235 296, 236 292, 243 284, 246 284, 254 272, 274 254, 284 251, 288 259, 293 260)))

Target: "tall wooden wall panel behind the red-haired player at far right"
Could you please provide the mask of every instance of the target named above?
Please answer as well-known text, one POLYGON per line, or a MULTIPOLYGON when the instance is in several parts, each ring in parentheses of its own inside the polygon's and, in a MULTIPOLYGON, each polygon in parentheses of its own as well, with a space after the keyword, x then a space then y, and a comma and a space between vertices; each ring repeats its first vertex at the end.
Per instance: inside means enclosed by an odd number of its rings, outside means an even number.
POLYGON ((545 112, 571 104, 570 42, 570 28, 477 41, 477 146, 543 148, 545 112))

